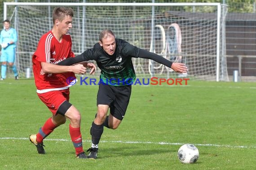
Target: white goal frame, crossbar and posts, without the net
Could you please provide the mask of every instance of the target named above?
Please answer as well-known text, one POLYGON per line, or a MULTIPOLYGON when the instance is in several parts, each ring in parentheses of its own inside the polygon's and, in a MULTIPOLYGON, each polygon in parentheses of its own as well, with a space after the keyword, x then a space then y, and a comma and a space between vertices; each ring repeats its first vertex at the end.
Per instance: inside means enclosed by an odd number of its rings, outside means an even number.
MULTIPOLYGON (((216 6, 217 7, 217 32, 216 32, 216 81, 220 81, 220 30, 221 30, 221 3, 29 3, 29 2, 4 2, 4 19, 7 18, 8 6, 216 6)), ((223 27, 223 26, 222 26, 223 27)), ((154 20, 152 19, 151 33, 153 40, 154 20)), ((225 40, 222 40, 225 41, 225 40)), ((224 43, 224 42, 223 42, 224 43)), ((223 54, 222 54, 223 55, 223 54)))

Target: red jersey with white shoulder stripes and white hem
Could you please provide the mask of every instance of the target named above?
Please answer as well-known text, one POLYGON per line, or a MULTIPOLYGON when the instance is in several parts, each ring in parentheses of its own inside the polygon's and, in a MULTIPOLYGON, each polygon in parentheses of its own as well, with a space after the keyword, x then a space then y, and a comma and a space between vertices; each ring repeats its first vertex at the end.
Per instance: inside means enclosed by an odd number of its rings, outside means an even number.
POLYGON ((70 34, 63 35, 61 43, 53 36, 52 31, 40 38, 37 49, 32 56, 37 93, 69 88, 70 85, 67 84, 66 80, 68 77, 75 77, 73 72, 53 73, 52 76, 48 77, 48 74, 40 75, 40 71, 41 62, 57 64, 66 58, 75 57, 71 47, 70 34))

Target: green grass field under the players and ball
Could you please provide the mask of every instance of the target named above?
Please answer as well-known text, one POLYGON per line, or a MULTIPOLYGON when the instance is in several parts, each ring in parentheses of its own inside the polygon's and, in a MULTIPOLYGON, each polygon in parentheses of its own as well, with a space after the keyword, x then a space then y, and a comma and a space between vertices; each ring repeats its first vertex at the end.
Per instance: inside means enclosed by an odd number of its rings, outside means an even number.
MULTIPOLYGON (((97 85, 74 85, 70 102, 82 115, 84 150, 90 145, 97 85)), ((104 129, 97 160, 75 159, 68 121, 44 140, 39 155, 28 139, 50 111, 34 80, 0 81, 0 169, 13 170, 254 170, 256 84, 188 81, 188 85, 132 86, 124 121, 104 129), (191 143, 195 164, 182 164, 177 151, 191 143)))

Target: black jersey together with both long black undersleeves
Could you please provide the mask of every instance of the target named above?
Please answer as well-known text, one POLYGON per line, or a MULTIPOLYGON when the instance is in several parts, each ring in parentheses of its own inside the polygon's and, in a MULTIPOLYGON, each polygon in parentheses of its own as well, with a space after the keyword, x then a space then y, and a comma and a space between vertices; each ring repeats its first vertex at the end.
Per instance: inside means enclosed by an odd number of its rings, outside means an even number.
POLYGON ((58 63, 58 65, 72 65, 82 61, 96 60, 101 69, 100 83, 123 86, 135 82, 136 76, 132 65, 132 57, 153 59, 169 68, 172 62, 160 55, 132 46, 123 39, 115 38, 116 49, 113 55, 108 55, 99 43, 93 48, 84 51, 76 57, 70 57, 58 63))

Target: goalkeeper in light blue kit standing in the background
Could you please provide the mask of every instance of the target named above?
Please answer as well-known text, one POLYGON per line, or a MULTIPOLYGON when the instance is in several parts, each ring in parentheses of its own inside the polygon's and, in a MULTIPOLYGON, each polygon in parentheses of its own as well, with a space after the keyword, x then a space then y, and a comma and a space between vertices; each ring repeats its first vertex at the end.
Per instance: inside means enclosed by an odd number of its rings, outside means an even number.
POLYGON ((4 29, 0 33, 0 45, 1 45, 1 78, 4 80, 6 78, 6 68, 7 63, 12 68, 15 80, 19 79, 17 68, 14 64, 15 52, 16 52, 16 42, 17 31, 10 27, 10 20, 4 20, 4 29))

